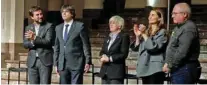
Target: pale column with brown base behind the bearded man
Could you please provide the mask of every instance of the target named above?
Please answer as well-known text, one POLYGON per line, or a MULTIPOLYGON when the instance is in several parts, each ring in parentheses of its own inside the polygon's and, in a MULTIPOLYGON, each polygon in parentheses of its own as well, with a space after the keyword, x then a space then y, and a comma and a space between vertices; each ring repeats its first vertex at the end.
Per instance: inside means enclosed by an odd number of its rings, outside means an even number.
POLYGON ((4 59, 18 59, 17 54, 21 52, 23 21, 24 21, 24 0, 2 0, 2 27, 1 36, 2 53, 4 59))

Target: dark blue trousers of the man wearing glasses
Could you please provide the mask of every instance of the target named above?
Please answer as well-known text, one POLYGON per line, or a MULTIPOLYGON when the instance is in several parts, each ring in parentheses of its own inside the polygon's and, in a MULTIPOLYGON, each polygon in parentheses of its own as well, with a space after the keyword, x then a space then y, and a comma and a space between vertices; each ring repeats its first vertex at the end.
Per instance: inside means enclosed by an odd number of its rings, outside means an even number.
POLYGON ((172 84, 195 84, 200 78, 201 68, 196 64, 186 64, 171 73, 172 84))

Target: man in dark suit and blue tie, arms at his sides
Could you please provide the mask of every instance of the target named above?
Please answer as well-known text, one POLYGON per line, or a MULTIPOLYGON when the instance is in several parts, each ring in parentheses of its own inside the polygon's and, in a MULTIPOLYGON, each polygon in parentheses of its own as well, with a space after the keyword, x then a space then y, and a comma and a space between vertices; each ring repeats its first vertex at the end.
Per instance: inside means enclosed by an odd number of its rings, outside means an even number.
POLYGON ((60 84, 82 84, 83 71, 91 63, 91 48, 87 28, 74 21, 75 9, 69 5, 61 8, 64 23, 56 27, 55 65, 60 84))

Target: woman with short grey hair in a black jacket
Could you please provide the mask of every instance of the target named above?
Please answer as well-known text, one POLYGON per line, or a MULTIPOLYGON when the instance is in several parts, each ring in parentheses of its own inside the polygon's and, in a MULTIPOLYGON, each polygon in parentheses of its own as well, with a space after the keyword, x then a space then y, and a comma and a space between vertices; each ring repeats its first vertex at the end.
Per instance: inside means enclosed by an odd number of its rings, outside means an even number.
POLYGON ((130 38, 124 33, 124 19, 113 16, 109 20, 110 33, 104 39, 100 51, 102 63, 100 77, 102 84, 123 84, 125 77, 125 60, 129 53, 130 38))

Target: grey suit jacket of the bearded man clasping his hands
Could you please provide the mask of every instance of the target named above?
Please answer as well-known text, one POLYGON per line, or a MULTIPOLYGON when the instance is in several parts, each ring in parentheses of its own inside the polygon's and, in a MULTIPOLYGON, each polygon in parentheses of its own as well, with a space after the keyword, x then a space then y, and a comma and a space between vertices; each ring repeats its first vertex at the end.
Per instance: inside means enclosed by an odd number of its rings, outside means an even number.
MULTIPOLYGON (((29 49, 27 65, 32 67, 36 60, 36 53, 45 66, 51 66, 53 64, 53 36, 54 26, 51 23, 42 23, 39 28, 38 35, 34 40, 33 44, 31 41, 24 37, 23 45, 26 49, 29 49)), ((31 30, 35 32, 33 24, 28 25, 25 28, 25 32, 31 30)))

